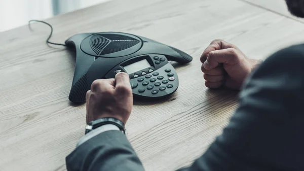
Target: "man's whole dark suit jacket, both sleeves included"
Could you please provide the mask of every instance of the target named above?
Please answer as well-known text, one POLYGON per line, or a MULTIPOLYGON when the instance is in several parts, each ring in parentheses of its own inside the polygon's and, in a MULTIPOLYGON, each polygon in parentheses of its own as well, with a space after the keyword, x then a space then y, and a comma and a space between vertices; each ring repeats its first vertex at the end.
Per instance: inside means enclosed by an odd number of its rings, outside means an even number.
MULTIPOLYGON (((246 80, 240 105, 195 170, 304 170, 304 45, 283 49, 246 80)), ((120 131, 100 133, 66 157, 69 171, 144 170, 120 131)))

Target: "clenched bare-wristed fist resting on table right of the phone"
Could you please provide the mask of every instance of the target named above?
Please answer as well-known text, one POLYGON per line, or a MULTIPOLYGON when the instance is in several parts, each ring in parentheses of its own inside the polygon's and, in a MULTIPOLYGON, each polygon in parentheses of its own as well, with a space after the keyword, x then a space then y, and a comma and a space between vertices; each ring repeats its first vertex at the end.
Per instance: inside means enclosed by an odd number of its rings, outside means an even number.
POLYGON ((205 85, 219 88, 222 85, 240 89, 245 78, 259 63, 248 59, 235 45, 214 40, 201 56, 205 85))

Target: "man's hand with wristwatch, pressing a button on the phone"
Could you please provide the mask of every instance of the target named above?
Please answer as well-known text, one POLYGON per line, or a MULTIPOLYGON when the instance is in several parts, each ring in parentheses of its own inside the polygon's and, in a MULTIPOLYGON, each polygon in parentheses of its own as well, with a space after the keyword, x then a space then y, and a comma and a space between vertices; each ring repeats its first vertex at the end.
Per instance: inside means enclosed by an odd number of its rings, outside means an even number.
POLYGON ((104 117, 113 117, 126 124, 133 106, 133 94, 127 73, 118 73, 115 79, 95 80, 87 92, 87 123, 104 117))

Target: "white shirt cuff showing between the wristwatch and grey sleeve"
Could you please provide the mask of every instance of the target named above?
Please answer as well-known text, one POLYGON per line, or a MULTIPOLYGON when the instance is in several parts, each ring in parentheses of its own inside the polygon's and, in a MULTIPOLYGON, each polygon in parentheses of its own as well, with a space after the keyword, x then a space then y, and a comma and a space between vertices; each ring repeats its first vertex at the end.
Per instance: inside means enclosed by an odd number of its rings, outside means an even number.
POLYGON ((102 133, 102 132, 105 132, 105 131, 108 131, 108 130, 119 130, 119 127, 116 126, 116 125, 113 125, 113 124, 105 124, 105 125, 102 125, 96 129, 93 129, 91 130, 89 133, 85 134, 77 143, 77 146, 80 146, 82 145, 84 142, 92 139, 94 136, 98 135, 99 133, 102 133))

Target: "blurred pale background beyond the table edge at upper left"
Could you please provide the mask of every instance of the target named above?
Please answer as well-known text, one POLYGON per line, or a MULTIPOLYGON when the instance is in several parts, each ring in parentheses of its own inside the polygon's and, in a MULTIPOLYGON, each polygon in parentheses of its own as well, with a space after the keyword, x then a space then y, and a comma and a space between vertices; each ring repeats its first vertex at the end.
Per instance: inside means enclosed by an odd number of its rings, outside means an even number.
POLYGON ((0 32, 111 0, 0 0, 0 32))

